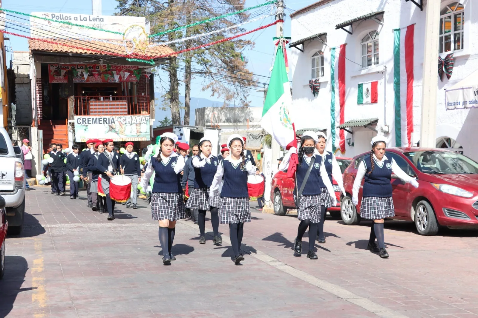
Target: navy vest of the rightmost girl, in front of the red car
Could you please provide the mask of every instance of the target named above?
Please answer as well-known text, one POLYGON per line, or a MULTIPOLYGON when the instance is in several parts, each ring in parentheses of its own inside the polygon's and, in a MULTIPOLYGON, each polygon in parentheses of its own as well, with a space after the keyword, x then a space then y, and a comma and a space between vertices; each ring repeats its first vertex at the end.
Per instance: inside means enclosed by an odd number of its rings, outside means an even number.
MULTIPOLYGON (((375 159, 374 159, 375 160, 375 159)), ((393 159, 392 159, 393 160, 393 159)), ((367 156, 362 160, 365 163, 367 172, 365 173, 365 182, 363 184, 363 197, 391 197, 391 160, 383 160, 383 166, 380 167, 375 161, 375 168, 369 173, 371 168, 370 157, 367 156)))

